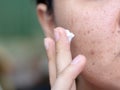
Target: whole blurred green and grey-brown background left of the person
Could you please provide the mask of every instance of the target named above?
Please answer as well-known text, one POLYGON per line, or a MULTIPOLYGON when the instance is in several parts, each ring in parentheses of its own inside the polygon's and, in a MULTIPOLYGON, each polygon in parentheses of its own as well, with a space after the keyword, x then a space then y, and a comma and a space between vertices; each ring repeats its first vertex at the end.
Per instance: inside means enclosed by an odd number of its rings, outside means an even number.
POLYGON ((2 68, 11 66, 6 76, 14 87, 33 87, 47 77, 43 38, 35 0, 0 0, 0 54, 5 57, 0 61, 7 62, 2 68))

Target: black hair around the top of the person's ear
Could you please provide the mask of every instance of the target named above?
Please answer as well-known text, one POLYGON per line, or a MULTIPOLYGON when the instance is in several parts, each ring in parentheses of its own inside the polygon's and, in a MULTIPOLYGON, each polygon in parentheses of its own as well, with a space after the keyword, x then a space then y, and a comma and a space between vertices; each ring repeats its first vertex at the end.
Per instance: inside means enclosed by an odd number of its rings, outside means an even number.
POLYGON ((37 4, 43 3, 47 5, 48 13, 53 12, 53 0, 36 0, 37 4))

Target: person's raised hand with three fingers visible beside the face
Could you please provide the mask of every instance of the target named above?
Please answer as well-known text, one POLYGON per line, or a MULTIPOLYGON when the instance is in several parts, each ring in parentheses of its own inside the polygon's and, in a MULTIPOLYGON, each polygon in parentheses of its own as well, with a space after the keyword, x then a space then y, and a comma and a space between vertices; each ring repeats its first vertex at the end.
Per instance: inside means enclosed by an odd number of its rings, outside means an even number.
POLYGON ((76 90, 76 77, 82 72, 86 58, 78 55, 72 60, 70 42, 65 29, 54 30, 55 40, 45 38, 51 90, 76 90))

